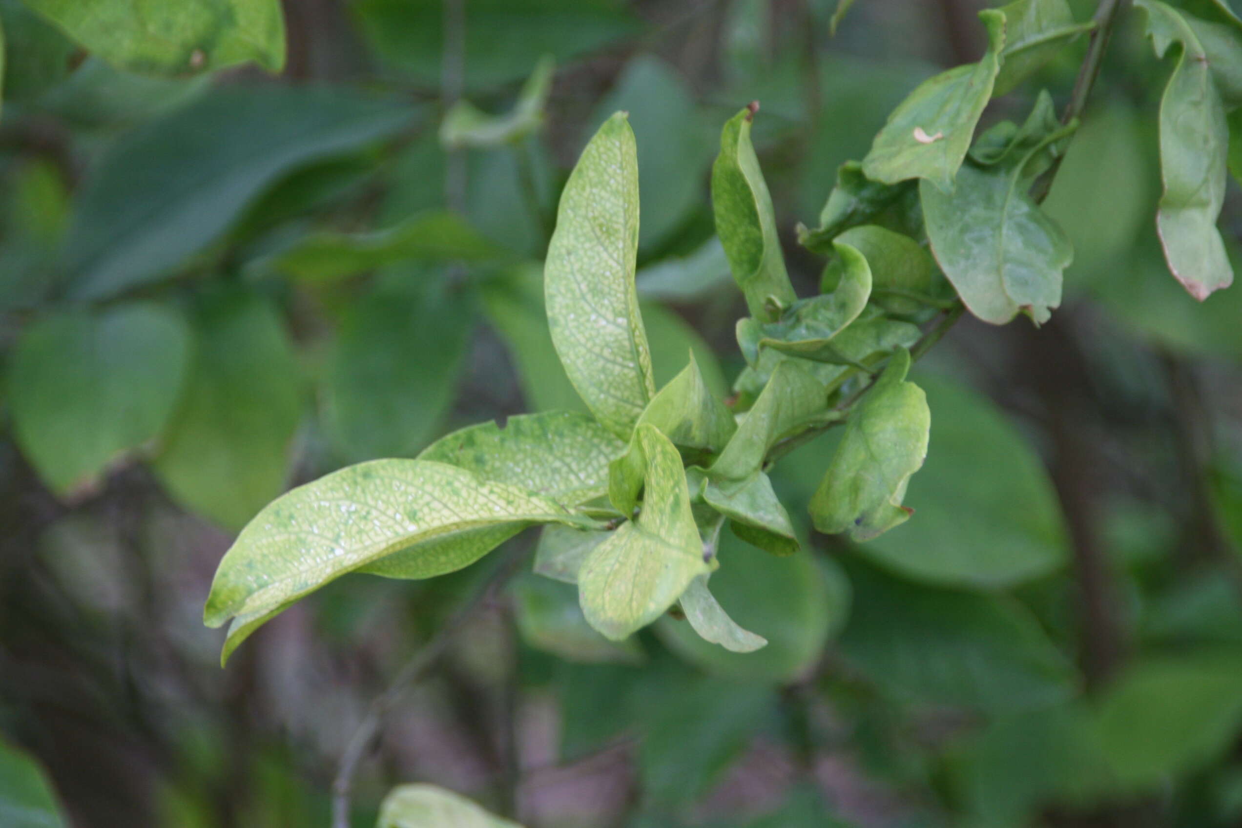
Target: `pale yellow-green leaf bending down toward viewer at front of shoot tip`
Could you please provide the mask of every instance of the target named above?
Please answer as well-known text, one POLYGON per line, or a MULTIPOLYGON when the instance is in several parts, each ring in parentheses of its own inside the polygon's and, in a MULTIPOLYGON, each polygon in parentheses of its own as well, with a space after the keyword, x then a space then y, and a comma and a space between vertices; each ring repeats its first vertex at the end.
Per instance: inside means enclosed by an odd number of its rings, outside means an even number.
POLYGON ((591 550, 578 574, 586 619, 612 641, 662 616, 709 571, 677 448, 643 425, 630 456, 642 464, 642 511, 591 550))

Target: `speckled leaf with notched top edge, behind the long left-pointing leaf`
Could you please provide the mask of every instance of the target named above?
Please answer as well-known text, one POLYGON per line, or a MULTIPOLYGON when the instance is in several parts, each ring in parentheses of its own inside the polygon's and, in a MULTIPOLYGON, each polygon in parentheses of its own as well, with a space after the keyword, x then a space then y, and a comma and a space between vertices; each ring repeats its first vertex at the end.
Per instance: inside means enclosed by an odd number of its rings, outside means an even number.
POLYGON ((484 480, 576 506, 607 493, 609 462, 623 451, 625 443, 586 415, 548 411, 509 417, 504 426, 484 422, 455 431, 419 459, 457 466, 484 480))

